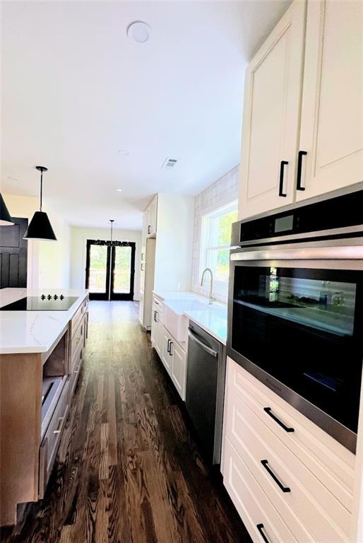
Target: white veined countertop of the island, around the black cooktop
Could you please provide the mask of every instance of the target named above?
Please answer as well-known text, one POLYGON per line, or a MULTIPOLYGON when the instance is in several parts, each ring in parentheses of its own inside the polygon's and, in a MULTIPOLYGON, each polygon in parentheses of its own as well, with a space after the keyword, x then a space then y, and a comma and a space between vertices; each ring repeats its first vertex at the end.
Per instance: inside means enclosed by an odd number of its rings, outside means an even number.
POLYGON ((63 294, 76 300, 67 311, 1 311, 0 354, 47 352, 71 317, 81 305, 88 291, 74 288, 47 288, 39 291, 30 288, 2 288, 0 308, 25 296, 63 294))

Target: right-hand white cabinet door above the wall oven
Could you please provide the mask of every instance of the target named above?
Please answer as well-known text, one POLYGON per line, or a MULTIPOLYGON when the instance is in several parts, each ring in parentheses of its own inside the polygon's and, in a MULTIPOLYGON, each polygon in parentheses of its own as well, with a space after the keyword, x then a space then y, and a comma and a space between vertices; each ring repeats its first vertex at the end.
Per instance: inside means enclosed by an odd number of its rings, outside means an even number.
POLYGON ((298 200, 362 181, 362 69, 362 2, 309 2, 298 200))

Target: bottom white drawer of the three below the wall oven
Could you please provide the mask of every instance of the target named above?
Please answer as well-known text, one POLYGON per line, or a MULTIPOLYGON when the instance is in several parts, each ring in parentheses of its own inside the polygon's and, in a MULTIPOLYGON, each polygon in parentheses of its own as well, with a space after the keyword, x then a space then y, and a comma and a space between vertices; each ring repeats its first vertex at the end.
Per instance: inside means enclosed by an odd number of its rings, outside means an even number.
POLYGON ((254 543, 297 543, 228 439, 224 462, 223 482, 254 543))

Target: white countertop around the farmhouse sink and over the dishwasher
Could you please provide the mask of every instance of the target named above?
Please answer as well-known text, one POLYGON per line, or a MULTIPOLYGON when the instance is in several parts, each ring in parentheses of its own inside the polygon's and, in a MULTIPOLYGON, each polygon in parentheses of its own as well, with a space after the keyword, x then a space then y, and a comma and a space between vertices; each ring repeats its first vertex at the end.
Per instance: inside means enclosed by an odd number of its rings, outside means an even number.
POLYGON ((198 310, 186 309, 183 315, 215 337, 223 345, 227 342, 227 305, 213 303, 209 305, 208 298, 191 291, 154 291, 164 302, 180 300, 198 300, 206 304, 206 308, 198 310))

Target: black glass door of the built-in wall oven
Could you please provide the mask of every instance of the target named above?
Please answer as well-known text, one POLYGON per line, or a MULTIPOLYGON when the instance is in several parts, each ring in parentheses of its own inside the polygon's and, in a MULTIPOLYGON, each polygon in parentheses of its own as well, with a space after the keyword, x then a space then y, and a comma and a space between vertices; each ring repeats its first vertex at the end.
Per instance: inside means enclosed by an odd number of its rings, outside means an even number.
POLYGON ((265 264, 234 264, 232 352, 357 433, 363 272, 265 264))

